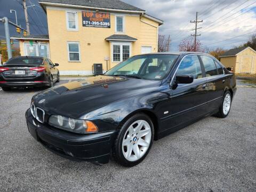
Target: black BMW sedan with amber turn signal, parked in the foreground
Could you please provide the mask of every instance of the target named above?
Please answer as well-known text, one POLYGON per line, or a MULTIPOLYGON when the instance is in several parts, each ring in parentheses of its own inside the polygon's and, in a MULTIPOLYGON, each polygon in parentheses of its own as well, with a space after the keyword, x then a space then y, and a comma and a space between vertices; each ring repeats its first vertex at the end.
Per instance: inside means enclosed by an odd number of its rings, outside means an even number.
POLYGON ((153 140, 199 119, 227 117, 235 75, 211 55, 137 55, 106 74, 34 95, 30 134, 63 157, 124 166, 140 163, 153 140))

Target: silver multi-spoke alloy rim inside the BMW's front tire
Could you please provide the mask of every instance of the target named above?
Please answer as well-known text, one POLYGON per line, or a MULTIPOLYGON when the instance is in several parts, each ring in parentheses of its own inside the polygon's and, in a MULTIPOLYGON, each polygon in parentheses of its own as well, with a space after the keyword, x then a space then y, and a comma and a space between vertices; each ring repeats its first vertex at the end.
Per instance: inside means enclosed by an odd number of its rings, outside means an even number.
POLYGON ((148 122, 138 120, 132 123, 124 134, 122 151, 128 161, 137 161, 146 154, 151 141, 148 122))

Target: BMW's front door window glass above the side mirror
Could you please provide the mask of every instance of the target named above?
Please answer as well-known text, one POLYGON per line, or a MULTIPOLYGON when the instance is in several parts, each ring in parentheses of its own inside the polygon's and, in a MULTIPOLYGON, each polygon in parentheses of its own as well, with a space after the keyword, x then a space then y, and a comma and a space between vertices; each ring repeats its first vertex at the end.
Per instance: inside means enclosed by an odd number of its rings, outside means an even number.
POLYGON ((176 76, 179 75, 193 75, 194 79, 203 77, 197 55, 189 55, 182 60, 176 73, 176 76))

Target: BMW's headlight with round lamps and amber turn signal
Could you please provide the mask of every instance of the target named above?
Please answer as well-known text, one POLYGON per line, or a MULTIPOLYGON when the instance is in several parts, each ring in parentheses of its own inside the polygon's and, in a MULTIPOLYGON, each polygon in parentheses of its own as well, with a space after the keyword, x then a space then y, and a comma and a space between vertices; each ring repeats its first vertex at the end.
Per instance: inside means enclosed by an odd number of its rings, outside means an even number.
POLYGON ((49 124, 63 130, 73 131, 76 133, 95 133, 98 127, 91 121, 82 119, 73 119, 61 115, 52 115, 49 118, 49 124))

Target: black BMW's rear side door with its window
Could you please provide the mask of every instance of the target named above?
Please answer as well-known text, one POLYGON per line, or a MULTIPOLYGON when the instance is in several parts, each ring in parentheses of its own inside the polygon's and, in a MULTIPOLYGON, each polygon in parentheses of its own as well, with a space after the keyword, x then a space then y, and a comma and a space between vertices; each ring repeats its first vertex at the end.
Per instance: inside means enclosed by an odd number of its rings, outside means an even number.
POLYGON ((207 79, 207 99, 210 111, 219 108, 226 87, 226 76, 217 61, 207 55, 200 55, 207 79))

